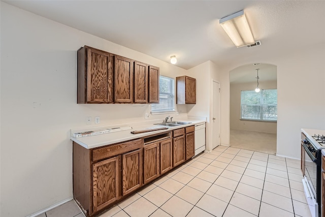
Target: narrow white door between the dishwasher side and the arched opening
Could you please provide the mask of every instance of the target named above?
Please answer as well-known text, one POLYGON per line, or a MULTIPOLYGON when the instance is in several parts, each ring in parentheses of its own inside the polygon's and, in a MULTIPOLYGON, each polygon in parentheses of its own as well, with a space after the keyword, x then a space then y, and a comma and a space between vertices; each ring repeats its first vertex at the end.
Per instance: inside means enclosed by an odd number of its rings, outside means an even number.
POLYGON ((212 81, 212 149, 220 145, 220 83, 212 81))

